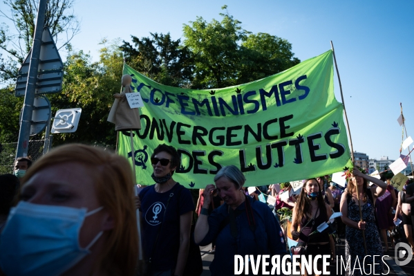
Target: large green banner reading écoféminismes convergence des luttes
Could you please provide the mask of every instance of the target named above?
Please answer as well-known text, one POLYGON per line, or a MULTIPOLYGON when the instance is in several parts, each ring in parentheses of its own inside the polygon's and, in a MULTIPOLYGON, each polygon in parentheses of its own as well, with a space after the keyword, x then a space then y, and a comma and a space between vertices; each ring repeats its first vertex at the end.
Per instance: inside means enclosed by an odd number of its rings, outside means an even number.
MULTIPOLYGON (((186 187, 213 183, 220 167, 236 165, 247 186, 332 174, 351 167, 343 105, 333 89, 332 50, 262 80, 223 89, 158 84, 124 66, 144 102, 134 131, 137 183, 151 185, 151 154, 178 149, 173 178, 186 187)), ((129 131, 118 152, 131 159, 129 131)))

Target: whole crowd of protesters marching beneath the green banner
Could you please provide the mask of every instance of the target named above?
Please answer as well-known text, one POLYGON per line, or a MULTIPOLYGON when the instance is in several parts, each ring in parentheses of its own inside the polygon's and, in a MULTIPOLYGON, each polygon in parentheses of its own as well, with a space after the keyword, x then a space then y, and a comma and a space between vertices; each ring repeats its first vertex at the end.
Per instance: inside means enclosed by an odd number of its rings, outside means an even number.
POLYGON ((129 162, 99 147, 64 145, 35 163, 17 158, 14 174, 0 176, 0 275, 200 275, 198 246, 210 243, 214 276, 234 275, 234 255, 323 254, 335 261, 339 238, 351 262, 387 254, 402 237, 414 248, 409 181, 397 191, 390 179, 354 168, 345 172, 346 187, 320 176, 294 189, 252 189, 229 165, 194 199, 173 179, 180 167, 174 147, 156 147, 151 164, 155 185, 135 196, 129 162), (315 232, 338 212, 327 230, 315 232))

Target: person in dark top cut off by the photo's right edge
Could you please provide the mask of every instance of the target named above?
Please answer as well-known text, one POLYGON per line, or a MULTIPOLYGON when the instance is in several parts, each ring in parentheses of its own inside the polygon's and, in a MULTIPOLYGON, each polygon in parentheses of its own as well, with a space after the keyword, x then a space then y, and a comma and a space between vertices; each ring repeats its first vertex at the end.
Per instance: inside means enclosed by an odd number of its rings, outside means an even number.
POLYGON ((407 202, 408 196, 406 194, 406 188, 408 186, 408 183, 409 181, 407 181, 404 187, 402 187, 402 191, 398 193, 397 210, 395 211, 395 217, 393 221, 397 221, 399 214, 402 215, 402 223, 404 226, 404 232, 406 234, 407 241, 411 246, 411 250, 413 251, 413 254, 414 254, 413 221, 411 219, 411 206, 410 206, 410 203, 407 202))

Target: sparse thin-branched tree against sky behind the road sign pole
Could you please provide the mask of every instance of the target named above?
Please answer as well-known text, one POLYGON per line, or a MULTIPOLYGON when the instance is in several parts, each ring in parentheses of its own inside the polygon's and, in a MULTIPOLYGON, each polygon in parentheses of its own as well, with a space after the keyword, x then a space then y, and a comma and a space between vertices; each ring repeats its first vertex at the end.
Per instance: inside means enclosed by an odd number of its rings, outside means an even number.
MULTIPOLYGON (((58 48, 70 48, 70 40, 79 33, 79 21, 72 11, 74 2, 47 2, 44 25, 49 27, 58 48)), ((0 25, 0 49, 6 53, 5 57, 0 54, 0 83, 10 83, 15 81, 19 66, 32 47, 39 0, 4 0, 3 3, 10 12, 0 10, 0 17, 10 20, 15 30, 4 23, 0 25)))

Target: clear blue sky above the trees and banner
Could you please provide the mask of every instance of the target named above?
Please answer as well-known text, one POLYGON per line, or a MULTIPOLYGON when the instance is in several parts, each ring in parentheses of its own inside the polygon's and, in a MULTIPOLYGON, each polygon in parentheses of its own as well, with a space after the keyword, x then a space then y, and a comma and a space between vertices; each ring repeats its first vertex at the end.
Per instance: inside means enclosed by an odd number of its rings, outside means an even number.
MULTIPOLYGON (((197 16, 220 20, 223 5, 245 30, 288 39, 301 60, 326 52, 332 40, 354 150, 370 158, 399 157, 399 102, 408 136, 414 138, 414 1, 78 0, 74 11, 82 19, 82 33, 72 43, 97 60, 103 38, 130 41, 130 35, 169 32, 178 39, 182 24, 197 16)), ((337 81, 335 95, 341 101, 337 81)))

